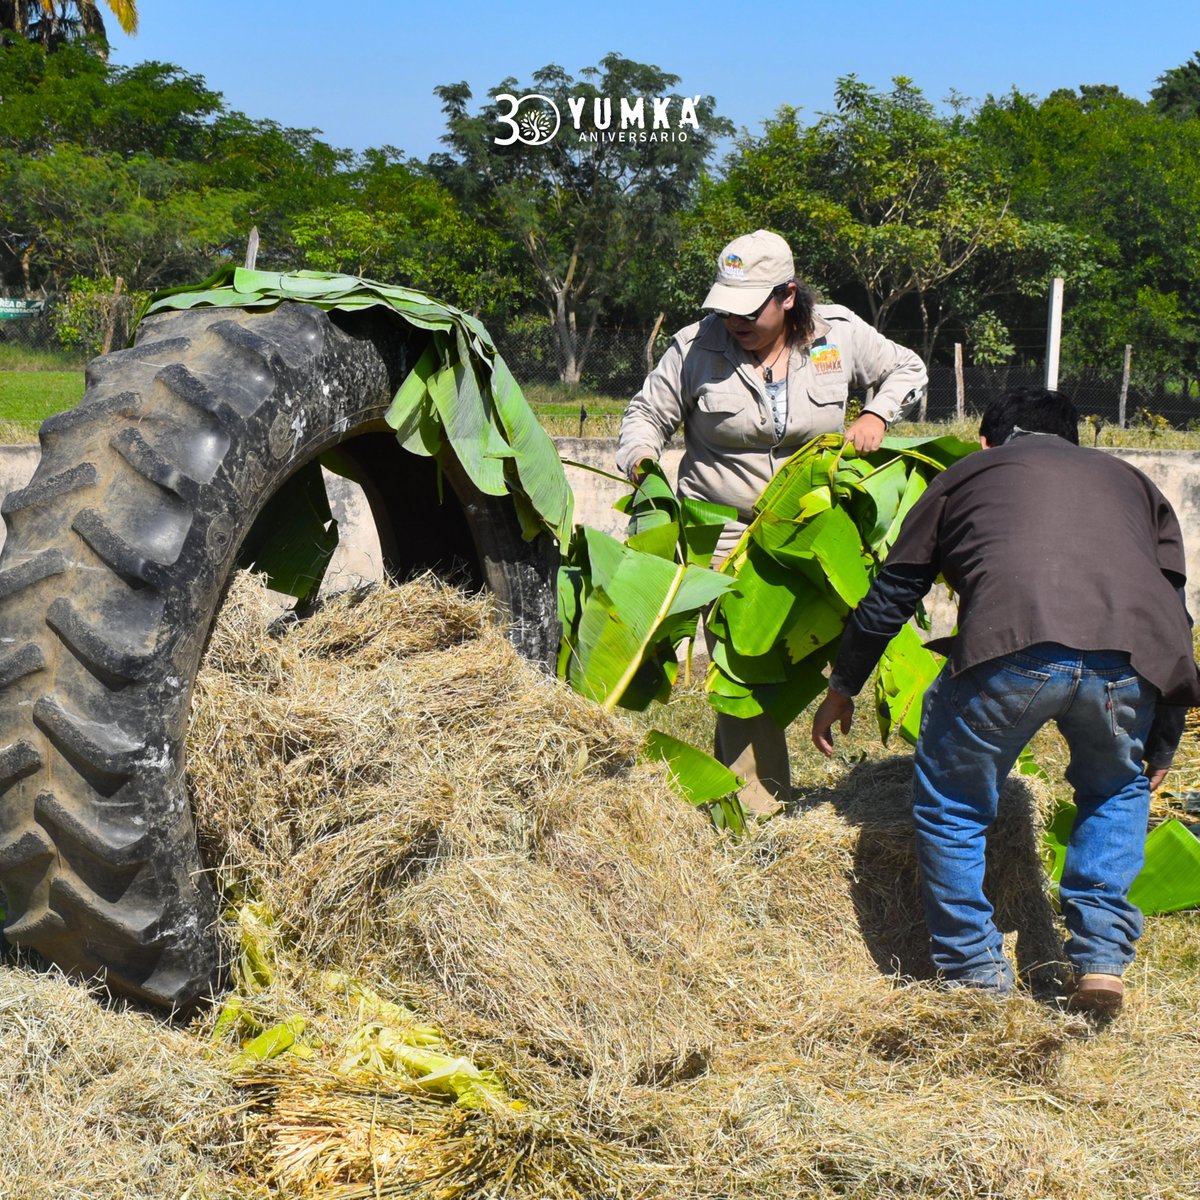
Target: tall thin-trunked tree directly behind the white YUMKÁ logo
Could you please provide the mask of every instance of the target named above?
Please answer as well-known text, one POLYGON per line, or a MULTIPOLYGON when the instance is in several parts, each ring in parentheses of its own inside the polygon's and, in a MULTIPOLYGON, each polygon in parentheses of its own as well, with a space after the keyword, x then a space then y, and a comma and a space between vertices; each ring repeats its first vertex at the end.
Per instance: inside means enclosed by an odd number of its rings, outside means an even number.
POLYGON ((522 247, 564 383, 578 383, 631 264, 671 263, 679 215, 716 140, 732 132, 710 97, 679 96, 678 83, 608 54, 580 79, 558 66, 526 85, 504 79, 475 114, 466 83, 436 89, 450 152, 430 168, 467 211, 522 247))

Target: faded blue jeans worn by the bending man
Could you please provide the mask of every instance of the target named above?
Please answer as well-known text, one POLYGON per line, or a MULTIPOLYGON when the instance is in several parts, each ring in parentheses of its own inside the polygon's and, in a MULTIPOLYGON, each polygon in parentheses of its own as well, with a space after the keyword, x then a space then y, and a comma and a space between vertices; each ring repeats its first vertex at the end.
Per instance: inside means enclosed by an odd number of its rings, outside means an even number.
POLYGON ((1080 974, 1121 974, 1133 961, 1141 913, 1128 893, 1141 870, 1150 811, 1142 746, 1157 689, 1117 650, 1042 642, 925 694, 913 817, 934 966, 942 978, 1007 991, 992 907, 983 894, 984 844, 1001 785, 1048 721, 1070 750, 1067 782, 1079 815, 1060 900, 1067 958, 1080 974))

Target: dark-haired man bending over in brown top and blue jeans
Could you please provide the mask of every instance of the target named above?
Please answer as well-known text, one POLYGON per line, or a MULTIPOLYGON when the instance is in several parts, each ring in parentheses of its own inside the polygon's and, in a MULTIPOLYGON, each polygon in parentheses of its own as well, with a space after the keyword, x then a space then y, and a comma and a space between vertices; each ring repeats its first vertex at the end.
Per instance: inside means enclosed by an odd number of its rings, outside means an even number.
POLYGON ((959 625, 930 643, 948 661, 925 694, 913 788, 934 966, 948 984, 1013 988, 983 893, 986 834, 1018 755, 1055 721, 1078 806, 1060 888, 1068 1003, 1111 1015, 1141 934, 1128 895, 1150 793, 1200 672, 1171 505, 1134 467, 1081 448, 1078 428, 1068 397, 1044 388, 988 408, 983 451, 930 484, 851 614, 812 742, 829 755, 833 727, 850 732, 853 696, 942 576, 959 625))

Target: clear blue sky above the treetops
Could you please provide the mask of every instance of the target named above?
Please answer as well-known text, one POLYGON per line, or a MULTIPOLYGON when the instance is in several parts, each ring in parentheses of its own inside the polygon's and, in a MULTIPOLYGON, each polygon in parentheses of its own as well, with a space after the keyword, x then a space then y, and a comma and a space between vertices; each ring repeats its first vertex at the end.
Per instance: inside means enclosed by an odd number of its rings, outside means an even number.
POLYGON ((613 50, 678 74, 682 94, 713 96, 751 132, 785 103, 830 108, 851 72, 877 88, 910 76, 935 101, 1086 83, 1145 100, 1200 50, 1200 0, 139 0, 138 11, 133 37, 107 22, 114 62, 174 62, 251 118, 420 158, 439 149, 437 84, 464 79, 480 97, 506 76, 524 83, 547 62, 577 74, 613 50))

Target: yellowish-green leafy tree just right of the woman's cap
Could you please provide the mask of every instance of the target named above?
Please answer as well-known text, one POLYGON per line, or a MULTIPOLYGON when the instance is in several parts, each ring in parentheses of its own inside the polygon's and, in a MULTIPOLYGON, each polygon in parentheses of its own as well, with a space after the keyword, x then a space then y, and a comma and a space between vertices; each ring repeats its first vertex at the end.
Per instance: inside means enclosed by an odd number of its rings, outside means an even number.
POLYGON ((954 281, 985 257, 1008 263, 1030 230, 961 113, 937 115, 904 77, 881 92, 846 76, 835 101, 811 125, 784 108, 744 139, 732 198, 788 238, 810 278, 857 293, 877 329, 914 310, 929 359, 947 320, 965 316, 965 293, 944 302, 954 281))

